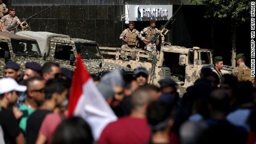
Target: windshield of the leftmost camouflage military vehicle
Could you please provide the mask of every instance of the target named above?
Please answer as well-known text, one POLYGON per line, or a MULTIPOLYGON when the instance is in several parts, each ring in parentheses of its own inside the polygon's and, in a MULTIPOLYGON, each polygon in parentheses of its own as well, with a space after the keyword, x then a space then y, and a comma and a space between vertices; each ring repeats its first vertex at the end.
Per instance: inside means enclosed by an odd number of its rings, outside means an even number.
POLYGON ((11 39, 12 49, 16 55, 41 56, 40 49, 36 41, 11 39))

